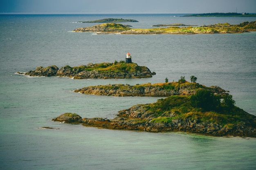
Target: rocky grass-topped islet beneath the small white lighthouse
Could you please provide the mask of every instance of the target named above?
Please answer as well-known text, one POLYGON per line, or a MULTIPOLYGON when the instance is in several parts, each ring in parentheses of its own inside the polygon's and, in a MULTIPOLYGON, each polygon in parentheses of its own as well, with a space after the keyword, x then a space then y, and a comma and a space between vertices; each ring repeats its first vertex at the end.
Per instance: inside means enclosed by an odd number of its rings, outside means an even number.
POLYGON ((146 78, 152 77, 151 71, 146 66, 138 66, 136 63, 126 63, 124 61, 114 63, 88 63, 87 66, 38 66, 33 71, 27 73, 18 72, 18 74, 29 76, 59 76, 70 77, 73 79, 123 79, 123 78, 146 78))

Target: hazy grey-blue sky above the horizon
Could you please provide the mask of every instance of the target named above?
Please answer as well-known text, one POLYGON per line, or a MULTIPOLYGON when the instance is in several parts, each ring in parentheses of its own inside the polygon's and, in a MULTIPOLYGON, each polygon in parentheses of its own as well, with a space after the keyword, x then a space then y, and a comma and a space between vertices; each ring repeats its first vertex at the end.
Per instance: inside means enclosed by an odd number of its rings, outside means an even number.
POLYGON ((0 0, 0 13, 256 13, 256 0, 0 0))

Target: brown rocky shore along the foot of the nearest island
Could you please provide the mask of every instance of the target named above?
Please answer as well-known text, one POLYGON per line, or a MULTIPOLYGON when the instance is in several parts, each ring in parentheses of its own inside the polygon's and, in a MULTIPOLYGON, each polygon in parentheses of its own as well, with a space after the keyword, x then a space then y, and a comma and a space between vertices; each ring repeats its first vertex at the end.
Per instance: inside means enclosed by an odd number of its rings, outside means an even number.
MULTIPOLYGON (((172 119, 171 122, 151 122, 153 117, 141 117, 141 110, 143 105, 135 105, 129 109, 119 111, 115 119, 104 119, 99 117, 82 118, 73 113, 64 113, 54 119, 53 121, 60 121, 62 123, 82 124, 83 126, 90 126, 96 128, 106 128, 110 130, 136 130, 145 132, 191 132, 209 136, 238 136, 238 137, 256 137, 255 124, 248 124, 249 122, 240 122, 232 126, 222 126, 220 124, 211 123, 208 121, 201 122, 199 119, 191 117, 182 119, 172 119)), ((145 112, 144 112, 145 113, 145 112)), ((250 115, 247 121, 256 121, 255 116, 250 115)))

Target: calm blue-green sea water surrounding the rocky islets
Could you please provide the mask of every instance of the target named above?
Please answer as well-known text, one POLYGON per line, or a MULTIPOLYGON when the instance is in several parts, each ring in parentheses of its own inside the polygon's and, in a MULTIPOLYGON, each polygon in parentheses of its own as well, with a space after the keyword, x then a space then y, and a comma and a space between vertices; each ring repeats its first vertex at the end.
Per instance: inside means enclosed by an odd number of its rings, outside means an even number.
POLYGON ((107 130, 52 121, 63 113, 112 119, 119 110, 159 97, 74 93, 106 84, 175 82, 184 76, 219 86, 236 106, 256 115, 256 32, 194 35, 121 35, 72 32, 104 18, 155 24, 240 24, 256 17, 181 17, 182 14, 0 15, 1 170, 255 170, 256 139, 186 132, 107 130), (125 60, 155 72, 141 79, 29 77, 37 66, 79 66, 125 60), (43 128, 49 127, 49 128, 43 128))

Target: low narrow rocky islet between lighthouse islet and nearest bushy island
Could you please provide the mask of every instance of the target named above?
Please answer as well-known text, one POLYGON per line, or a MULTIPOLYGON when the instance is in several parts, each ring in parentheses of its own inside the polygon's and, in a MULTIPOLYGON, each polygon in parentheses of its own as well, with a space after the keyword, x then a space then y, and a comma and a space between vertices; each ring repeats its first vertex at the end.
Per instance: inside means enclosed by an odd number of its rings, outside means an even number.
POLYGON ((169 82, 169 83, 157 83, 157 84, 137 84, 130 86, 129 84, 108 84, 97 85, 78 88, 74 92, 92 95, 106 95, 106 96, 146 96, 146 97, 168 97, 171 95, 193 95, 199 89, 207 89, 212 91, 216 95, 225 95, 226 92, 218 86, 211 86, 210 88, 195 84, 195 83, 183 83, 169 82))

